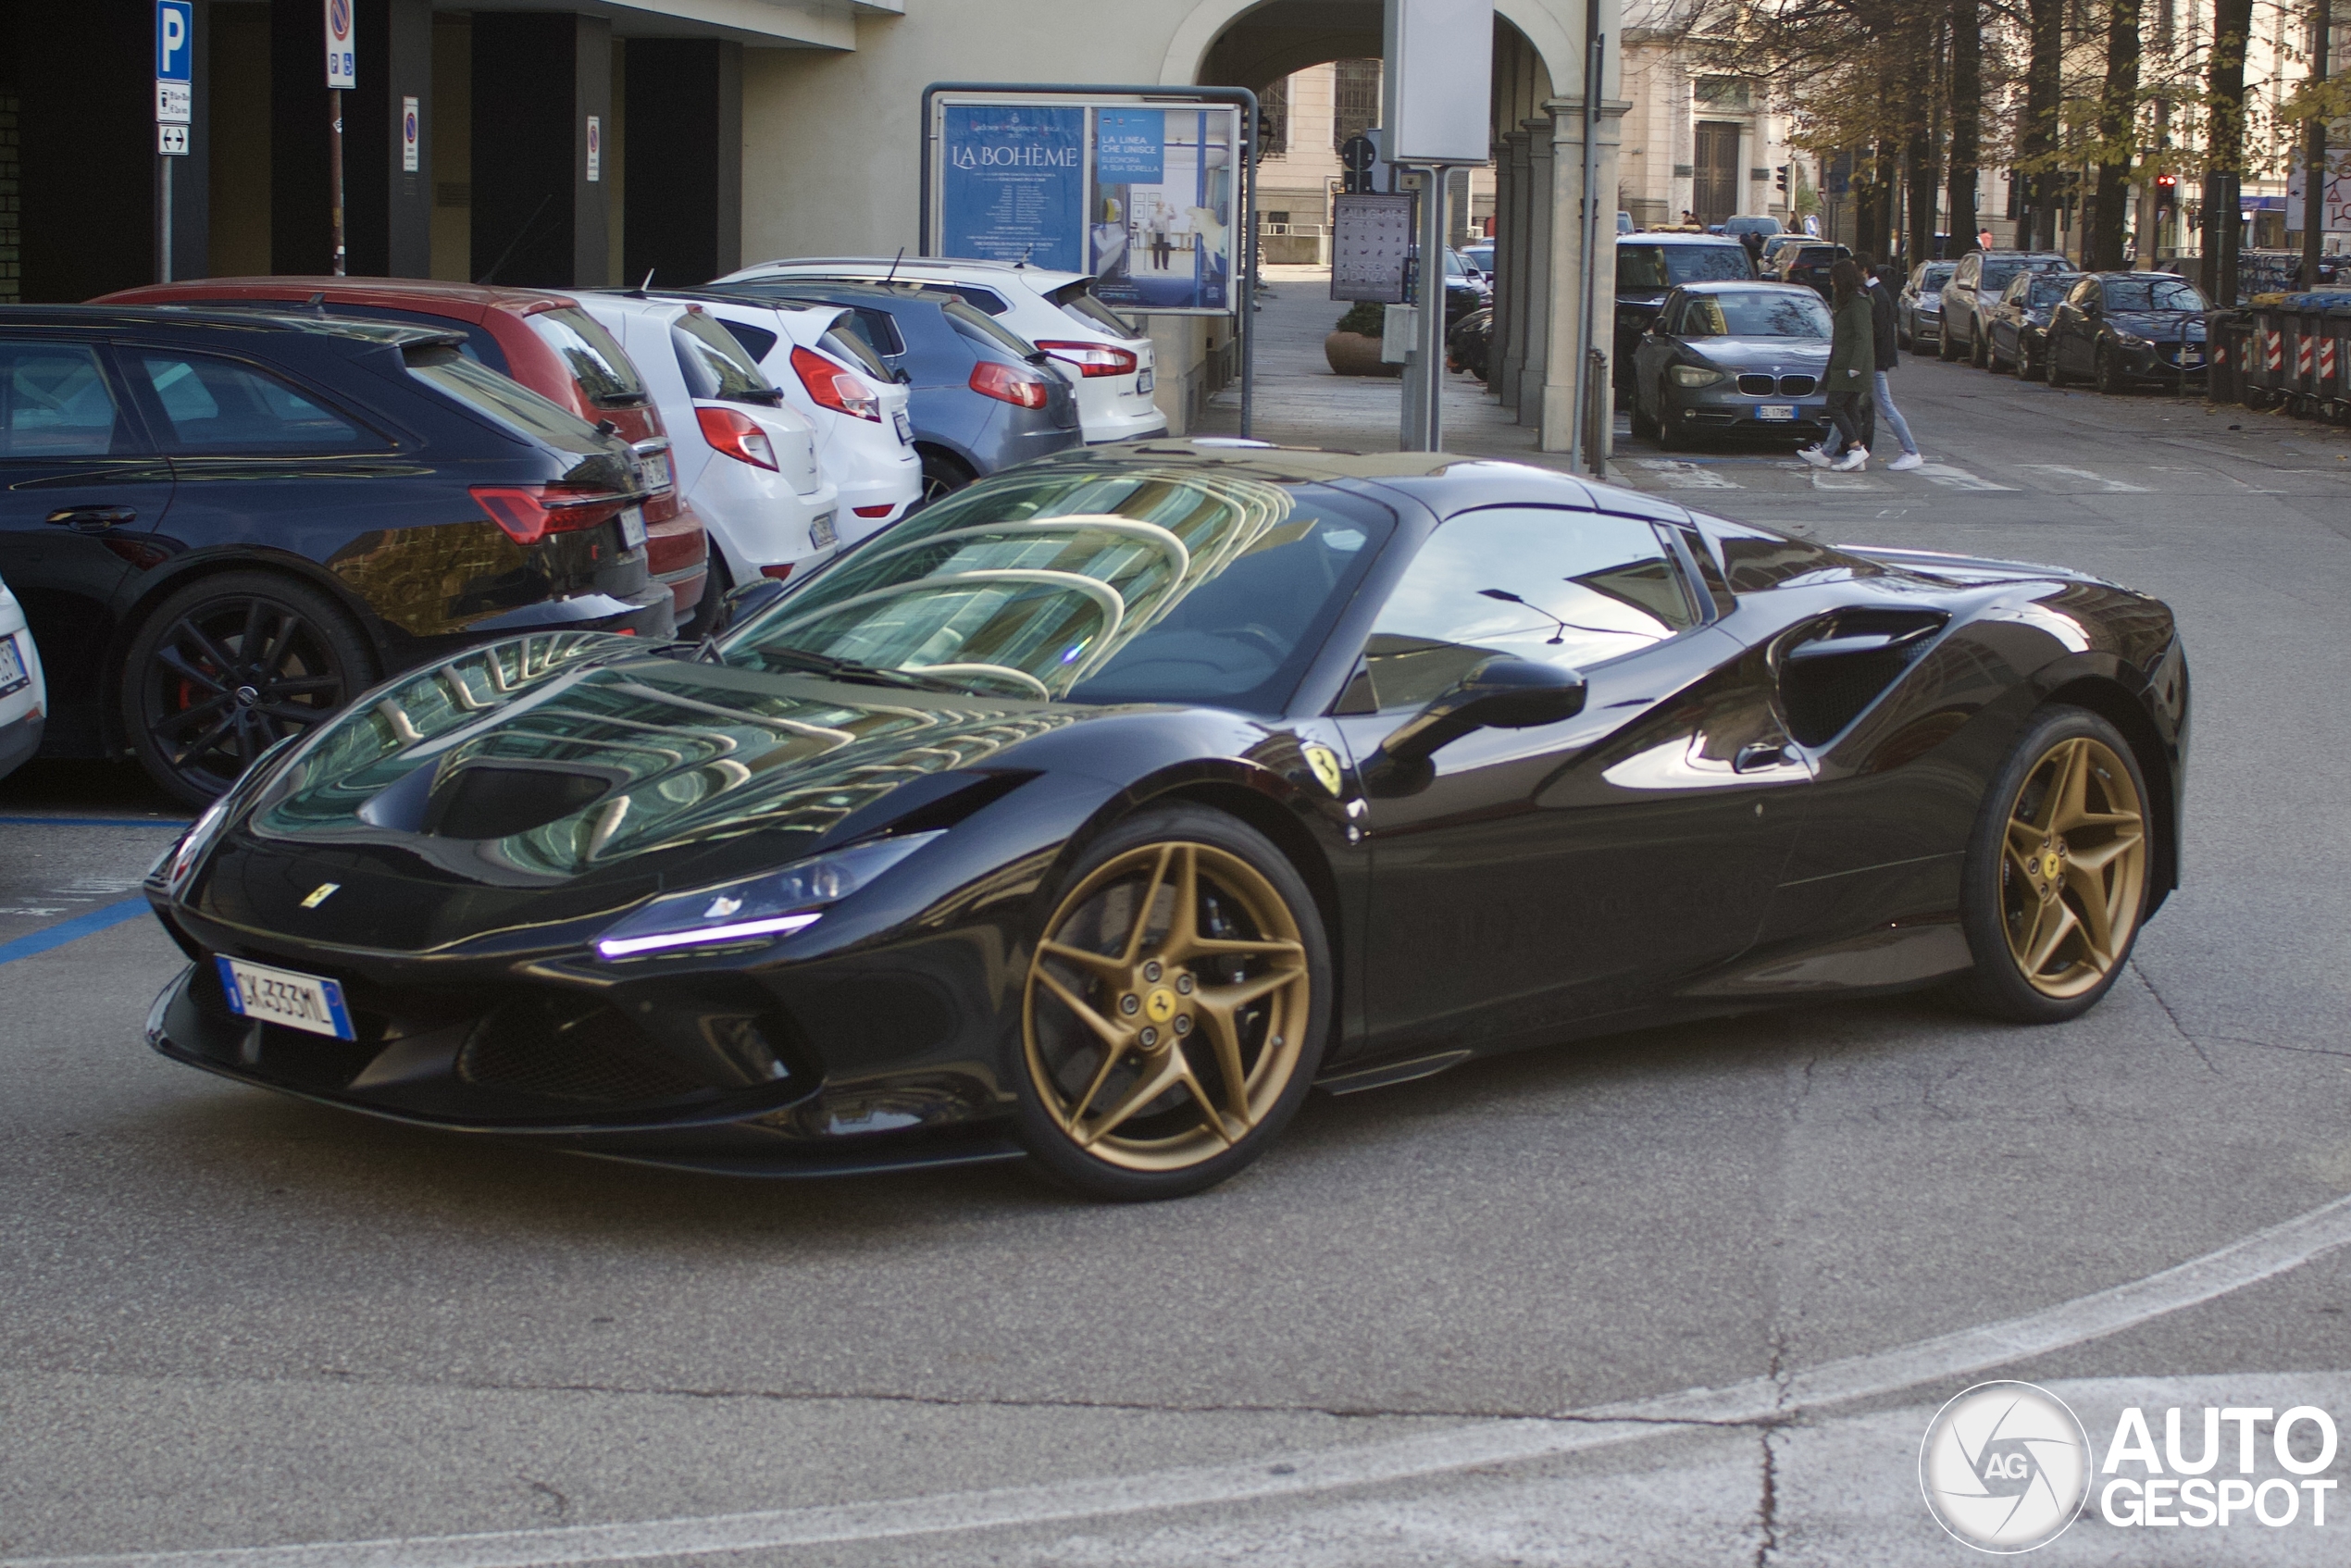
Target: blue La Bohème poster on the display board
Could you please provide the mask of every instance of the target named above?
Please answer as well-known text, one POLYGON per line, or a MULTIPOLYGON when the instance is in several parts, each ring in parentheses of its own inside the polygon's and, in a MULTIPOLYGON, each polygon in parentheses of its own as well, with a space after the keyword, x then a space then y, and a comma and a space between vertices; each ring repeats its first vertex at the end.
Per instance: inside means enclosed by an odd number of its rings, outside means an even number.
POLYGON ((943 254, 1084 268, 1084 108, 947 106, 940 165, 943 254))

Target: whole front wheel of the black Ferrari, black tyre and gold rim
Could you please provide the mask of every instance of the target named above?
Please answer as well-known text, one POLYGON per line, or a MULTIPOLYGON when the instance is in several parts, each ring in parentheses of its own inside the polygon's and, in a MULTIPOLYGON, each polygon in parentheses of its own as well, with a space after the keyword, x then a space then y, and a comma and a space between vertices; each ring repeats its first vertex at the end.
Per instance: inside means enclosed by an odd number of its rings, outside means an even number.
POLYGON ((1298 867, 1223 811, 1152 806, 1105 832, 1039 910, 1006 1074, 1032 1166, 1096 1199, 1154 1201, 1255 1161, 1331 1034, 1331 943, 1298 867), (1190 922, 1176 917, 1185 882, 1190 922))

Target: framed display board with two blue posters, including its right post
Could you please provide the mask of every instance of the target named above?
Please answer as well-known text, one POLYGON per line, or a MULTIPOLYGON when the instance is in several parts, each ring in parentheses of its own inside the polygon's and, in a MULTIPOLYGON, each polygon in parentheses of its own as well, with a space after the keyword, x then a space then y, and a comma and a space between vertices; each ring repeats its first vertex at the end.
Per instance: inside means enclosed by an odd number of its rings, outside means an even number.
POLYGON ((931 82, 924 256, 1091 273, 1131 315, 1232 315, 1255 395, 1258 94, 1241 87, 931 82))

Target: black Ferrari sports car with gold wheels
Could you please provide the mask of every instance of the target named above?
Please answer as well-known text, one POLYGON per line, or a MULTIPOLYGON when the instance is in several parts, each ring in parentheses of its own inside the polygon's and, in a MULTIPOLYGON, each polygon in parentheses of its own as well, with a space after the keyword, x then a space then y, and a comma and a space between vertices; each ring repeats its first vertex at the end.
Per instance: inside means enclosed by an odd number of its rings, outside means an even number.
POLYGON ((1232 1175, 1312 1086, 1794 999, 2114 985, 2179 877, 2158 599, 1512 463, 973 484, 703 644, 517 637, 148 879, 158 1051, 741 1173, 1232 1175))

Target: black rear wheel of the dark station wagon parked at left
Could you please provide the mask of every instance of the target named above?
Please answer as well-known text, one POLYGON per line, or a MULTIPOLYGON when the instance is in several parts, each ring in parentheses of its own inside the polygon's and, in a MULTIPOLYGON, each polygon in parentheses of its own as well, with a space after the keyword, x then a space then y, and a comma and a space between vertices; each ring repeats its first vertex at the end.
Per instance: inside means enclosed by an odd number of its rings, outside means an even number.
POLYGON ((374 679, 367 635, 331 597, 277 571, 223 571, 139 623, 122 663, 122 733, 158 785, 205 806, 374 679))

